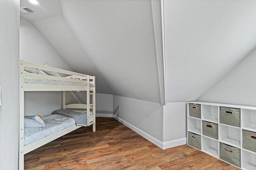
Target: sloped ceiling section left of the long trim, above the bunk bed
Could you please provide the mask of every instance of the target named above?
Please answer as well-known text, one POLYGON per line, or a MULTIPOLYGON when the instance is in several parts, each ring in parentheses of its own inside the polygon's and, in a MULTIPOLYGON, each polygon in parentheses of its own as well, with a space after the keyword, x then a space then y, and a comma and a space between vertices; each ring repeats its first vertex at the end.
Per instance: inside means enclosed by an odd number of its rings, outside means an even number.
POLYGON ((41 6, 32 6, 21 0, 20 6, 38 12, 22 17, 34 23, 72 70, 96 76, 97 93, 160 103, 150 1, 41 0, 40 3, 41 6), (58 12, 53 12, 52 18, 49 15, 43 18, 41 12, 54 10, 52 6, 58 12), (106 86, 101 87, 102 84, 106 86))

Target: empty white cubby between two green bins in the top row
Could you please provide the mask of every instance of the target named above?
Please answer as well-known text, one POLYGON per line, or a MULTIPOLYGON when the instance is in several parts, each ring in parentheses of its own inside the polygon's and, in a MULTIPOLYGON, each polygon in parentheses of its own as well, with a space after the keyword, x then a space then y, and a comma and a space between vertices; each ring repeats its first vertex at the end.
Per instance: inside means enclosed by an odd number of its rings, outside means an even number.
POLYGON ((202 119, 218 123, 218 106, 201 105, 202 119))

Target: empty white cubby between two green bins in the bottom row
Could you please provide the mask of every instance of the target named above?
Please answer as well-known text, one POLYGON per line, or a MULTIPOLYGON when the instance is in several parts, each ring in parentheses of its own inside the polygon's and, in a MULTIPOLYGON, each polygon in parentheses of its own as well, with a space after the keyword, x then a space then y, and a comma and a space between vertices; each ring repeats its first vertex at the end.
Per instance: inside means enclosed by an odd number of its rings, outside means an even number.
POLYGON ((208 137, 204 137, 204 136, 202 137, 202 151, 218 158, 219 157, 218 149, 219 149, 218 141, 216 141, 214 139, 210 139, 208 137))

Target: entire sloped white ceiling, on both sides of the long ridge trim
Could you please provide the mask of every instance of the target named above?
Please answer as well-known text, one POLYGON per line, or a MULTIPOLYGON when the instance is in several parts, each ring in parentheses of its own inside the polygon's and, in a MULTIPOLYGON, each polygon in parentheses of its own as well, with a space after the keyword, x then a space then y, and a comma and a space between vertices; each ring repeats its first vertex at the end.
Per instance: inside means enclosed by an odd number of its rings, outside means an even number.
POLYGON ((72 70, 95 75, 98 93, 198 100, 256 47, 252 0, 39 1, 20 0, 37 12, 21 17, 72 70))

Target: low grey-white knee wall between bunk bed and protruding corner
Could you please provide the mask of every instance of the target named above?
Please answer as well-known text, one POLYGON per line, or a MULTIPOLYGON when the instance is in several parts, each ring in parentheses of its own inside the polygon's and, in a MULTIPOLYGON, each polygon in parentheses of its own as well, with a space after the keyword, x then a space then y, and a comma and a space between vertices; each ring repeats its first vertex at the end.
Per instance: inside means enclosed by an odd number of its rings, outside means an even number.
POLYGON ((163 107, 160 104, 114 95, 113 109, 114 117, 120 118, 122 123, 133 125, 162 141, 163 107))

